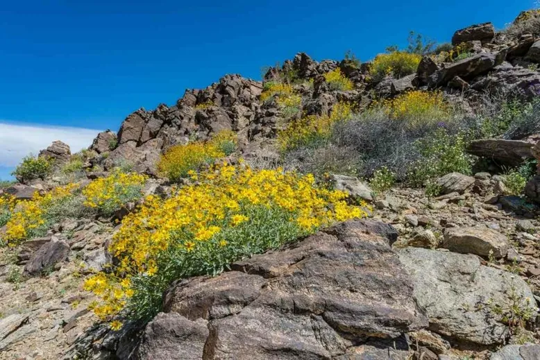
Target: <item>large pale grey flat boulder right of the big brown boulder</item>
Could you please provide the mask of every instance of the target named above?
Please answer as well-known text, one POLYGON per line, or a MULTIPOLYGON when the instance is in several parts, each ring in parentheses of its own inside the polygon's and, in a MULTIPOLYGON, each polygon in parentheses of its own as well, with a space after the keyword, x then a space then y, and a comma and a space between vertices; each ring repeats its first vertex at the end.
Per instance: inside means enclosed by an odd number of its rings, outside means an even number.
POLYGON ((488 302, 508 309, 512 296, 536 316, 536 304, 521 277, 483 266, 475 255, 422 248, 398 250, 414 281, 414 295, 429 318, 430 331, 458 343, 504 343, 510 331, 488 302))

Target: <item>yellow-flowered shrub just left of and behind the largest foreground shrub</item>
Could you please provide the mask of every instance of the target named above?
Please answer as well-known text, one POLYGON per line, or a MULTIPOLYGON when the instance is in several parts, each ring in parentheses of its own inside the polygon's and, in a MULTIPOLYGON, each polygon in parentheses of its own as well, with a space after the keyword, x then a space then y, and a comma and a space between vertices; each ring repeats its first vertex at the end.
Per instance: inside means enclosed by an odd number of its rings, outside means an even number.
POLYGON ((83 189, 85 206, 99 214, 110 216, 127 203, 142 198, 146 176, 138 173, 114 171, 106 178, 96 179, 83 189))

